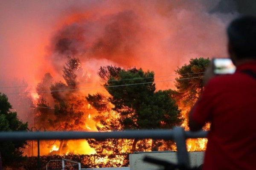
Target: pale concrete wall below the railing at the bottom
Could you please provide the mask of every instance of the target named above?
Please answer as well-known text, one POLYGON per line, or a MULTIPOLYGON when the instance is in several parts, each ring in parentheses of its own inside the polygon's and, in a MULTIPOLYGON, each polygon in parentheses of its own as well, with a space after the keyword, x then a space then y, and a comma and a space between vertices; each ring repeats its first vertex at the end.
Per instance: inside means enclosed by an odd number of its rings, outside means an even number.
MULTIPOLYGON (((130 170, 157 170, 159 166, 143 161, 145 156, 150 156, 156 159, 163 159, 172 163, 177 163, 176 152, 146 152, 135 153, 129 155, 130 170)), ((189 152, 191 167, 198 167, 203 164, 204 152, 189 152)))

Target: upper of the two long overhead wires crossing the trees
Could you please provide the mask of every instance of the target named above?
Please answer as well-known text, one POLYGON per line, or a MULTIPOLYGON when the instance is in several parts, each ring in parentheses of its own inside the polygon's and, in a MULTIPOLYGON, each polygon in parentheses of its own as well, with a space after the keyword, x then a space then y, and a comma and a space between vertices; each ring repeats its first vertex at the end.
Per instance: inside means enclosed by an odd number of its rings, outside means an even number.
MULTIPOLYGON (((205 72, 198 72, 198 73, 187 73, 187 74, 179 74, 180 76, 183 75, 190 75, 190 74, 203 74, 205 72)), ((177 76, 177 75, 166 75, 166 76, 157 76, 157 77, 140 77, 140 78, 133 78, 133 79, 121 79, 121 80, 109 80, 109 82, 116 82, 116 81, 126 81, 126 80, 136 80, 136 79, 151 79, 151 78, 159 78, 159 77, 170 77, 170 76, 177 76)), ((97 81, 99 82, 99 81, 97 81)), ((80 83, 70 83, 67 85, 80 85, 80 84, 91 84, 91 83, 96 83, 96 82, 80 82, 80 83)), ((49 84, 50 85, 50 84, 49 84)), ((23 86, 5 86, 5 87, 0 87, 0 88, 28 88, 28 87, 36 87, 37 85, 23 85, 23 86)))

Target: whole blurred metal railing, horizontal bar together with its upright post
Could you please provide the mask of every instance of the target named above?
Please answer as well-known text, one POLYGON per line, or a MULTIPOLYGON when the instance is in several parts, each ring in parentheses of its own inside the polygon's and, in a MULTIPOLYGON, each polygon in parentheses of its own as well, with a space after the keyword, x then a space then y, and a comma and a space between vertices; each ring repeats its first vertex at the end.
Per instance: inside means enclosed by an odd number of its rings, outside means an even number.
POLYGON ((17 140, 51 140, 51 139, 169 139, 176 142, 178 164, 189 165, 189 155, 186 149, 186 139, 206 138, 207 131, 185 131, 183 127, 173 130, 123 130, 112 132, 0 132, 0 141, 17 140))

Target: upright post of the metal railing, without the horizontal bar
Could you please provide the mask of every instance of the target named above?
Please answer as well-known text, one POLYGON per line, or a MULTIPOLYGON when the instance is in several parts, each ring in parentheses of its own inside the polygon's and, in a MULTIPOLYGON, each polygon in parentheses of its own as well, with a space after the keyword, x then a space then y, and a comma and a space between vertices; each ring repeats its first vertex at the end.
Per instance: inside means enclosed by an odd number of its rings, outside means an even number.
POLYGON ((173 129, 174 141, 177 146, 177 160, 178 164, 185 166, 186 168, 190 167, 189 164, 189 154, 186 149, 186 136, 185 130, 183 127, 175 127, 173 129))

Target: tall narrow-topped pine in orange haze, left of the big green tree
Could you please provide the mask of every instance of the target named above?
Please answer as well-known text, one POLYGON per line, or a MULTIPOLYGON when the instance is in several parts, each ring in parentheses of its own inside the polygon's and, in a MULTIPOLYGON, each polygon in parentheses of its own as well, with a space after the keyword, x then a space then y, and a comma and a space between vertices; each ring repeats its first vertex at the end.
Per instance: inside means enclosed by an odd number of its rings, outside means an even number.
MULTIPOLYGON (((83 76, 83 70, 78 58, 68 57, 66 65, 63 67, 64 82, 56 82, 51 85, 50 90, 55 101, 55 119, 49 119, 49 124, 55 130, 86 130, 86 118, 84 107, 86 100, 76 89, 79 82, 77 77, 83 76)), ((61 140, 59 154, 65 153, 67 140, 61 140)))

